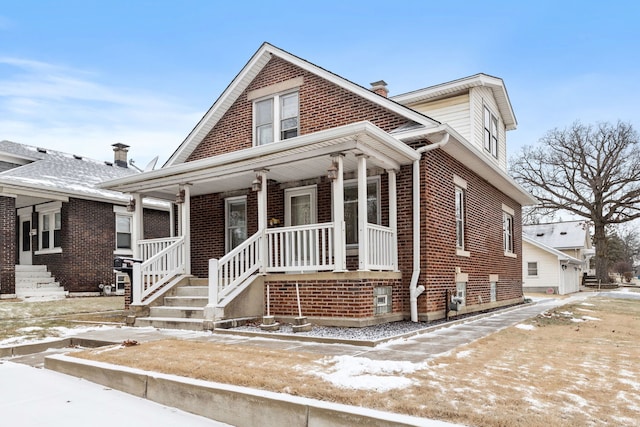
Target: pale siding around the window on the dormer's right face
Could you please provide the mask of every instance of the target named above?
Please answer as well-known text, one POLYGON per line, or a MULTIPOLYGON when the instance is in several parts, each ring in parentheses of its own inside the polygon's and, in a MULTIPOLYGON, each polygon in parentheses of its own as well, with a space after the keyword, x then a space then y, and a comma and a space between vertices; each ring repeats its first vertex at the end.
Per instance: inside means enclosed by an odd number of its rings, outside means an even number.
POLYGON ((504 120, 498 110, 498 104, 493 97, 493 92, 487 87, 475 87, 470 90, 470 108, 472 114, 472 130, 469 141, 476 145, 483 153, 487 154, 487 157, 496 161, 496 163, 503 170, 507 169, 507 135, 504 126, 504 120), (487 106, 491 113, 498 118, 498 159, 496 161, 490 153, 487 153, 483 147, 483 132, 484 123, 482 115, 484 112, 484 106, 487 106))

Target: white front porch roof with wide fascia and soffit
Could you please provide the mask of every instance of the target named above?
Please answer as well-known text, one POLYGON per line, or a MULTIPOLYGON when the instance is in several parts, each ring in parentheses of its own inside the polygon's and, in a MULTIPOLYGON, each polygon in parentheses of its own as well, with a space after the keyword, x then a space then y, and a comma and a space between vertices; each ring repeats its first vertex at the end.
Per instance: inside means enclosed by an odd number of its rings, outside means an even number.
POLYGON ((277 182, 323 176, 331 165, 330 156, 338 153, 344 155, 345 172, 357 170, 357 155, 368 156, 371 166, 386 170, 420 158, 403 142, 364 121, 115 179, 101 187, 171 200, 183 184, 191 185, 195 196, 251 187, 261 169, 277 182))

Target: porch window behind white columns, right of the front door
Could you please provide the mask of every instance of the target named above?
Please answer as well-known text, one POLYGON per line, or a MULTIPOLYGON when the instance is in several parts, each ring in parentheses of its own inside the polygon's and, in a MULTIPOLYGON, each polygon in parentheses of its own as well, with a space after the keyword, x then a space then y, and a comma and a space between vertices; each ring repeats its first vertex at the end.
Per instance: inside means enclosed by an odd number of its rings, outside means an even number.
MULTIPOLYGON (((344 182, 344 222, 347 245, 358 244, 358 181, 344 182)), ((367 222, 380 225, 380 177, 367 179, 367 222)))

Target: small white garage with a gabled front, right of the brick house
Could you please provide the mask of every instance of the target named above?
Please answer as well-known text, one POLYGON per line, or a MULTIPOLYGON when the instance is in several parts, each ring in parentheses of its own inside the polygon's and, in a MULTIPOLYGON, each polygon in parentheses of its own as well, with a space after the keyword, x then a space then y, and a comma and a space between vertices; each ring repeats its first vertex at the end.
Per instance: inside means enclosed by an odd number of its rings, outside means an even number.
POLYGON ((580 291, 582 261, 522 235, 524 292, 565 295, 580 291))

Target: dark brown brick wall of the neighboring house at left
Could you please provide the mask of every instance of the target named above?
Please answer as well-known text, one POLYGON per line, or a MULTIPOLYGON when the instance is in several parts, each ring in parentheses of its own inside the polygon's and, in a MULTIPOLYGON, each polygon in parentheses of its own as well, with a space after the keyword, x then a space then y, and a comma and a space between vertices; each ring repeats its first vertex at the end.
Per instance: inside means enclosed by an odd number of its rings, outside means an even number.
MULTIPOLYGON (((69 292, 99 292, 98 285, 114 283, 116 234, 113 205, 70 199, 62 204, 61 214, 62 253, 34 255, 33 263, 47 265, 69 292)), ((145 210, 145 235, 168 236, 168 212, 145 210)))

